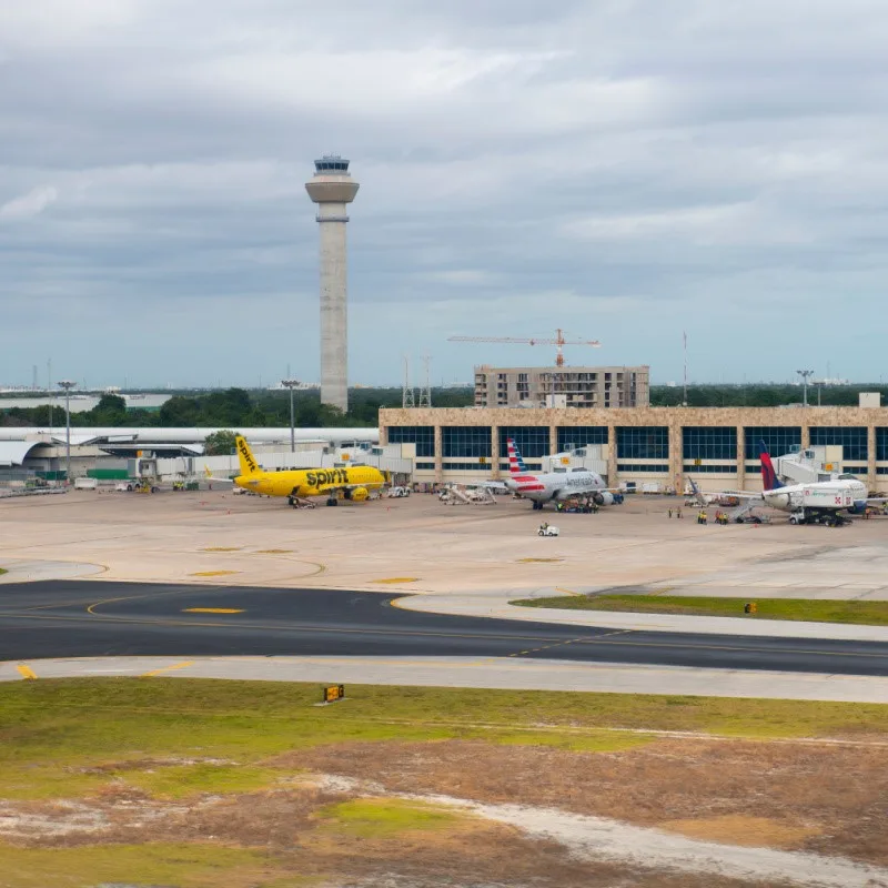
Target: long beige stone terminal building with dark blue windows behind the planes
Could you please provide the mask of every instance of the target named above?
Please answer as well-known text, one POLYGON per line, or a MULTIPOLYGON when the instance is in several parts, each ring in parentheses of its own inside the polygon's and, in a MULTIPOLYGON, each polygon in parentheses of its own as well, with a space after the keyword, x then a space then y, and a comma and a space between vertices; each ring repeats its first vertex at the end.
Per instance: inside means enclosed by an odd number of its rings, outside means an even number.
MULTIPOLYGON (((861 401, 866 396, 861 396, 861 401)), ((888 408, 626 407, 381 410, 380 443, 415 446, 418 482, 477 482, 508 471, 513 437, 529 470, 584 447, 608 484, 760 490, 758 443, 773 455, 823 446, 828 465, 888 490, 888 408)), ((589 463, 586 463, 589 465, 589 463)))

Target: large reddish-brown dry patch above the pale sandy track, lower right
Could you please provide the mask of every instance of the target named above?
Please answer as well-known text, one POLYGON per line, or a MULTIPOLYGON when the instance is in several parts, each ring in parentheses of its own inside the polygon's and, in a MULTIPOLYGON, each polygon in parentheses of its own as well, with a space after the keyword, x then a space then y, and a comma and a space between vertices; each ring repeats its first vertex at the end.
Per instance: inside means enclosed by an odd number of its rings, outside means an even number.
POLYGON ((888 750, 880 748, 662 740, 603 754, 446 740, 341 744, 276 764, 390 791, 524 803, 642 826, 766 818, 779 827, 770 847, 888 864, 888 750))

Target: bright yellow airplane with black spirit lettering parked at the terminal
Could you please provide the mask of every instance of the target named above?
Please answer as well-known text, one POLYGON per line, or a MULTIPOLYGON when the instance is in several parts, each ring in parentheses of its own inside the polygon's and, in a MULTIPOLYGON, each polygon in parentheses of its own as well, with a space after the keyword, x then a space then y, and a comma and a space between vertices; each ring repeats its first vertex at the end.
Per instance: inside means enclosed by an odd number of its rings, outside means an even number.
POLYGON ((286 472, 265 472, 256 463, 250 445, 244 438, 235 438, 241 474, 235 478, 218 478, 206 471, 211 481, 229 482, 245 491, 265 496, 285 496, 291 506, 297 506, 300 500, 310 496, 326 496, 326 504, 335 506, 340 497, 362 503, 371 491, 382 487, 387 477, 369 465, 355 465, 349 468, 299 468, 286 472))

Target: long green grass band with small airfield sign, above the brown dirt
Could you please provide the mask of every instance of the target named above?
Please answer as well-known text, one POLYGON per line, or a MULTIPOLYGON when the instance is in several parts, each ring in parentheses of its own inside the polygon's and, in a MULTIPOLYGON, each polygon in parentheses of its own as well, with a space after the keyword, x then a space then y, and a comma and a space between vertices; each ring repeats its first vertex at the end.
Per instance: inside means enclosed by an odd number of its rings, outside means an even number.
POLYGON ((352 685, 316 706, 320 688, 276 682, 88 678, 0 685, 0 797, 64 798, 100 788, 127 761, 212 759, 127 778, 171 797, 245 791, 272 775, 259 763, 344 741, 483 739, 608 751, 645 729, 731 737, 888 733, 888 706, 352 685), (614 728, 627 729, 625 733, 614 728), (114 769, 109 761, 117 763, 114 769), (236 761, 235 766, 225 763, 236 761), (94 766, 94 767, 93 767, 94 766))

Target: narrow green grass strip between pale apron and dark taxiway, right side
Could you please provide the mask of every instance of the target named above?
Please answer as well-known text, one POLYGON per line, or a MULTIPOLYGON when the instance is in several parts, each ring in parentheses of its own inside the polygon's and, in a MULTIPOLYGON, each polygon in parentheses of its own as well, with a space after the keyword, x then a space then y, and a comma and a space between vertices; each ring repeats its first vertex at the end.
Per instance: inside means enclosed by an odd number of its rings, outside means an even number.
POLYGON ((837 602, 809 598, 720 598, 684 595, 558 595, 512 602, 521 607, 566 610, 617 610, 629 614, 686 614, 738 619, 795 619, 810 623, 859 623, 888 626, 888 602, 837 602), (755 602, 756 614, 744 613, 755 602))

